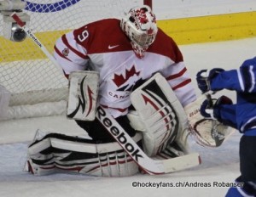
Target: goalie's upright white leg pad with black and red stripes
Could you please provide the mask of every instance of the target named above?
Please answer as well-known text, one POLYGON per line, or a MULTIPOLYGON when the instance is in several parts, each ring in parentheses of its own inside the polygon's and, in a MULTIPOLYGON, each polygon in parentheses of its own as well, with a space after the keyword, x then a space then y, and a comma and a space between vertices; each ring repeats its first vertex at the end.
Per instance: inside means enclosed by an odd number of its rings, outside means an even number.
POLYGON ((128 118, 131 118, 131 126, 143 131, 143 147, 148 156, 157 155, 167 144, 183 139, 187 116, 172 88, 159 73, 131 93, 131 103, 138 118, 135 113, 128 118))

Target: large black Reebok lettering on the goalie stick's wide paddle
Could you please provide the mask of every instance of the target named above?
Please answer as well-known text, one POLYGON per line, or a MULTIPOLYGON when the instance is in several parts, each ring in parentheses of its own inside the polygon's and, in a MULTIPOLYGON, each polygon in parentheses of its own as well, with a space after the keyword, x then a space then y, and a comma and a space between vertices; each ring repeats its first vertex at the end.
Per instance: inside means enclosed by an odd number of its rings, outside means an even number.
POLYGON ((131 155, 134 160, 137 160, 143 155, 140 155, 140 150, 136 149, 131 143, 128 142, 128 139, 125 137, 126 133, 119 130, 119 127, 115 127, 113 122, 108 118, 107 113, 102 107, 98 107, 97 117, 102 122, 102 124, 108 128, 108 132, 111 132, 113 138, 115 138, 119 144, 122 144, 126 152, 131 155))

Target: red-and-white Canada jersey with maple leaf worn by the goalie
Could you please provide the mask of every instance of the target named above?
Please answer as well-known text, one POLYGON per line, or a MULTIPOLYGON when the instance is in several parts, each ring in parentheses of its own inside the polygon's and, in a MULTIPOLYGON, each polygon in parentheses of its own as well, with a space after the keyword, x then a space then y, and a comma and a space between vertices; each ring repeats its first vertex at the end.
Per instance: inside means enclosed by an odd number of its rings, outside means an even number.
POLYGON ((89 68, 99 72, 98 102, 113 117, 128 113, 134 85, 155 72, 166 78, 183 106, 195 100, 182 53, 160 29, 144 58, 139 59, 120 28, 120 20, 99 20, 63 35, 55 44, 55 59, 67 76, 89 68))

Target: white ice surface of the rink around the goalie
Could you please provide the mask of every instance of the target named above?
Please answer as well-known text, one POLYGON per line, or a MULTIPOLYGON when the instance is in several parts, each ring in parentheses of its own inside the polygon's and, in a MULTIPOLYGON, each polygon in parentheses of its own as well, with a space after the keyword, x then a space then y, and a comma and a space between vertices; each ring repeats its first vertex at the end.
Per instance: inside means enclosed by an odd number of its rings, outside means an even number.
MULTIPOLYGON (((256 56, 256 38, 230 42, 212 42, 180 46, 184 61, 195 85, 195 74, 201 69, 222 67, 238 68, 243 60, 256 56)), ((195 86, 196 87, 196 86, 195 86)), ((196 90, 196 93, 200 92, 196 90)), ((234 100, 235 93, 222 92, 234 100)), ((131 196, 178 196, 221 197, 229 189, 224 184, 232 183, 239 176, 238 147, 241 134, 234 133, 219 148, 203 148, 189 139, 191 149, 201 154, 202 164, 193 169, 172 174, 133 177, 89 177, 84 175, 54 174, 35 177, 23 172, 27 144, 37 129, 63 132, 69 135, 84 134, 84 131, 64 116, 31 118, 0 123, 0 196, 1 197, 131 197, 131 196), (194 187, 133 187, 132 184, 189 183, 194 187), (211 187, 199 187, 199 183, 211 187), (218 183, 218 185, 215 185, 218 183)))

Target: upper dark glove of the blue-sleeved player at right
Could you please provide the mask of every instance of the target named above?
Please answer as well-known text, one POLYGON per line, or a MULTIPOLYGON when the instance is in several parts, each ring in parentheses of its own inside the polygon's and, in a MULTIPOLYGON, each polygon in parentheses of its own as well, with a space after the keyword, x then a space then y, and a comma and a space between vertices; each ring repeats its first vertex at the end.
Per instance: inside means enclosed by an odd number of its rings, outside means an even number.
POLYGON ((196 82, 202 93, 207 93, 207 91, 211 90, 211 80, 222 71, 224 69, 216 68, 212 70, 201 70, 197 73, 196 82))

